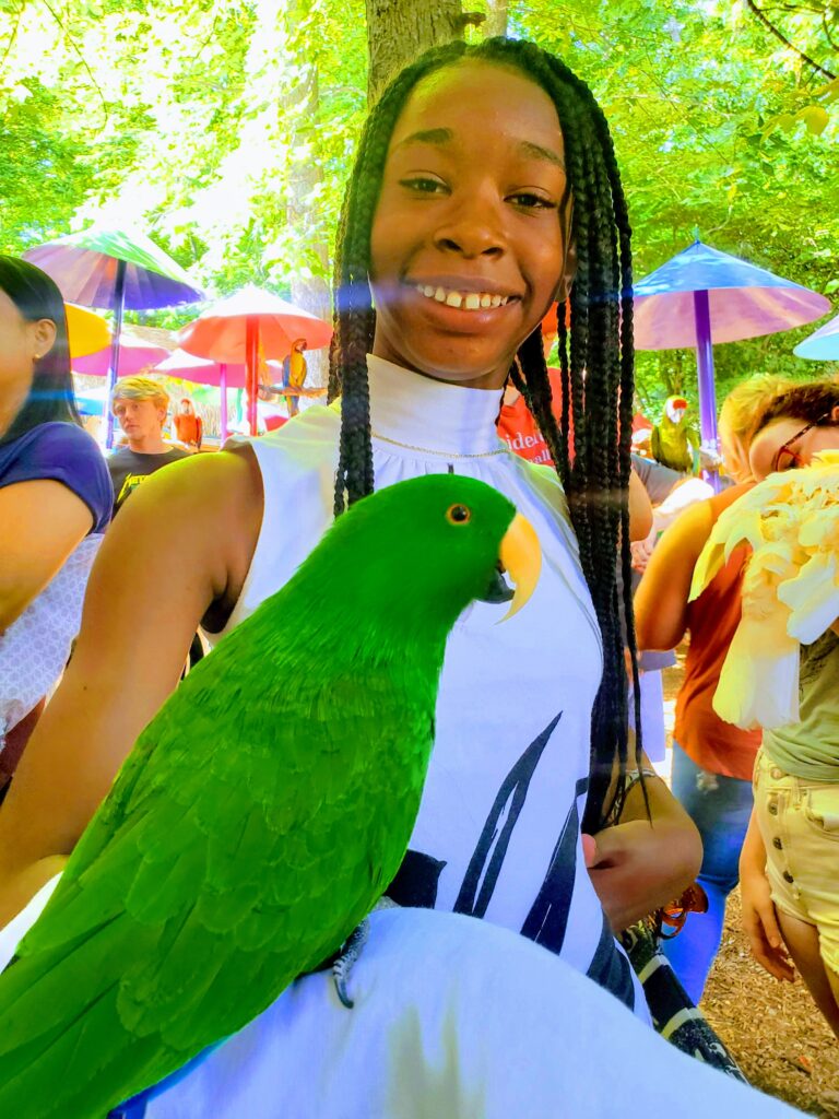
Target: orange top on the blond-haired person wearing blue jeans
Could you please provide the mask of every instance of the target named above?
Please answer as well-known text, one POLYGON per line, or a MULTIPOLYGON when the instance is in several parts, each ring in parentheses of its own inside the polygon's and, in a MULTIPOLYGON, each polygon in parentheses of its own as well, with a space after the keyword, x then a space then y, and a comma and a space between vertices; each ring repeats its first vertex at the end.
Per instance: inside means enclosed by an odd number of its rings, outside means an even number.
MULTIPOLYGON (((733 486, 709 498, 714 521, 748 486, 733 486)), ((722 777, 752 780, 761 731, 741 731, 711 707, 723 661, 741 619, 741 583, 748 558, 747 545, 737 548, 699 598, 688 605, 690 647, 685 683, 676 699, 673 737, 697 765, 722 777)))

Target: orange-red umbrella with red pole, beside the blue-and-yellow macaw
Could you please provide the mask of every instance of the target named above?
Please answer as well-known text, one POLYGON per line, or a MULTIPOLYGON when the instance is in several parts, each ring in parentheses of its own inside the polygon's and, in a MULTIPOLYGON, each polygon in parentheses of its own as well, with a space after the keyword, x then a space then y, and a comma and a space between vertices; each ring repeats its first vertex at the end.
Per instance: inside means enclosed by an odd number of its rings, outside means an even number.
POLYGON ((178 335, 181 348, 218 363, 244 363, 247 419, 256 434, 256 391, 261 359, 282 360, 292 344, 304 338, 307 349, 328 346, 328 322, 258 288, 242 291, 210 307, 178 335))

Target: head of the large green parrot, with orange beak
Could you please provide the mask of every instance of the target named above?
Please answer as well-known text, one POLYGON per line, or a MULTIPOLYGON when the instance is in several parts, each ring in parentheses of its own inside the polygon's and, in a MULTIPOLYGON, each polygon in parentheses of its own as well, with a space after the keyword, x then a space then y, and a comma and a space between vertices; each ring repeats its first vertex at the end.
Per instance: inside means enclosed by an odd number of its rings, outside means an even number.
POLYGON ((473 478, 425 474, 342 514, 301 574, 328 579, 346 624, 444 638, 475 599, 512 600, 505 617, 515 613, 540 563, 536 533, 506 497, 473 478))

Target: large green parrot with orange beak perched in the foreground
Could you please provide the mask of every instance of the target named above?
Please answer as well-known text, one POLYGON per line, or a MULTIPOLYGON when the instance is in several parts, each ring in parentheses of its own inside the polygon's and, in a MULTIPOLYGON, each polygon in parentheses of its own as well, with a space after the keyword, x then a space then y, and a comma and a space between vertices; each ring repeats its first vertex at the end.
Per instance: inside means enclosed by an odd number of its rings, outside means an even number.
POLYGON ((142 732, 0 976, 0 1116, 102 1119, 341 948, 407 848, 449 631, 539 562, 470 478, 337 519, 142 732))

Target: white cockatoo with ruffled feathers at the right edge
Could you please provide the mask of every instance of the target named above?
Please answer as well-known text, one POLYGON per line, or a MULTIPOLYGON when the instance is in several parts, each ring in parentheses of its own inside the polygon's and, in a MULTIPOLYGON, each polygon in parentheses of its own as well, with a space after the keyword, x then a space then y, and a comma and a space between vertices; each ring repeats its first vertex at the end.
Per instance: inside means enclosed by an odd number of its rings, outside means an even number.
POLYGON ((730 505, 697 561, 689 601, 742 544, 752 548, 743 617, 714 709, 744 730, 796 723, 801 645, 811 645, 839 618, 839 451, 770 474, 730 505))

